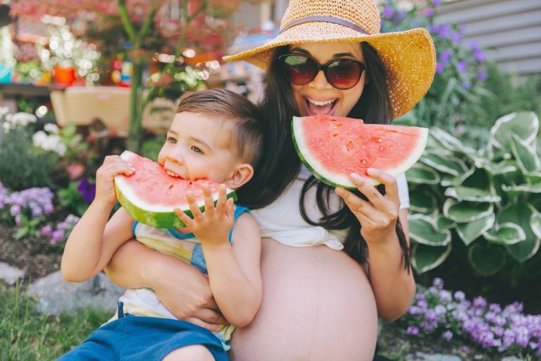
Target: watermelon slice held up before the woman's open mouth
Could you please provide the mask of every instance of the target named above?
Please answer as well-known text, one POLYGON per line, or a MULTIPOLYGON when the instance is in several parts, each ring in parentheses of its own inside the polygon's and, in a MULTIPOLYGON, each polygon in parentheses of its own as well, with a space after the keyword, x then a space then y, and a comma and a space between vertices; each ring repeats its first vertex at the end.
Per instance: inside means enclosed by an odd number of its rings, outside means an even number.
MULTIPOLYGON (((356 188, 349 174, 367 176, 375 168, 392 176, 404 173, 421 157, 427 128, 365 124, 338 116, 293 117, 295 149, 316 178, 334 187, 356 188)), ((371 184, 378 182, 368 178, 371 184)))

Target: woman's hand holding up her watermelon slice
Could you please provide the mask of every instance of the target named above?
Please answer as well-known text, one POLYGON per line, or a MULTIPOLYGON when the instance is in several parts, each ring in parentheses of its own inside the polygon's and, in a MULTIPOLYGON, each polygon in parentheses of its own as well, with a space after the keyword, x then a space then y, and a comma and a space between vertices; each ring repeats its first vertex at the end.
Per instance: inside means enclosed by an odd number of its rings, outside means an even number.
POLYGON ((377 245, 385 240, 392 240, 396 235, 396 224, 400 207, 396 179, 389 173, 378 169, 368 169, 368 176, 385 185, 385 195, 356 173, 349 178, 357 189, 366 195, 368 201, 357 197, 344 188, 336 188, 347 207, 361 224, 361 235, 369 245, 377 245))

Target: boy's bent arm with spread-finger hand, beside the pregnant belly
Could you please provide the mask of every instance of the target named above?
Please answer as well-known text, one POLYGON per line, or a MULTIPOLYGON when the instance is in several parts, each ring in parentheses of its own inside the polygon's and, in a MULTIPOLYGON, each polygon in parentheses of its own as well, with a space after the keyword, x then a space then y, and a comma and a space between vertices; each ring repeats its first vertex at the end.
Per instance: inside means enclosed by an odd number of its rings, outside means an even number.
POLYGON ((210 189, 203 187, 204 212, 188 193, 186 198, 194 218, 180 209, 175 209, 175 213, 203 247, 212 293, 220 311, 230 324, 242 327, 251 322, 261 305, 261 236, 249 214, 242 214, 235 223, 233 200, 225 196, 225 185, 218 189, 216 207, 210 189), (229 233, 234 223, 233 247, 229 233))

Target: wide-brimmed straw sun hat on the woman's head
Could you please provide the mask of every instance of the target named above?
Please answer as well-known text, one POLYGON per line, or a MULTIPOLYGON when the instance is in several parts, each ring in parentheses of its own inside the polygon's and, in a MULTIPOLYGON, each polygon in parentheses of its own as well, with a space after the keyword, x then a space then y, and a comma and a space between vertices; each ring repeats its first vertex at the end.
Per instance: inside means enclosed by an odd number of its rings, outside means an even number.
POLYGON ((277 37, 223 59, 266 69, 275 47, 306 42, 371 44, 387 67, 393 118, 413 108, 434 78, 436 55, 428 31, 380 33, 380 13, 374 0, 290 0, 277 37))

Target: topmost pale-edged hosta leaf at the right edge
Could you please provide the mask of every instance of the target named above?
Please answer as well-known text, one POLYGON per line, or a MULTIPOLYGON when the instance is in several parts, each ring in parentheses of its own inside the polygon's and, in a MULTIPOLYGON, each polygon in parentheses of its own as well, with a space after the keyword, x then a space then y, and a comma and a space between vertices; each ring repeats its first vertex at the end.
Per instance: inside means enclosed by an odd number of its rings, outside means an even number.
POLYGON ((490 129, 490 142, 499 149, 509 149, 512 134, 526 143, 535 141, 539 131, 539 119, 533 111, 507 114, 499 118, 490 129))

